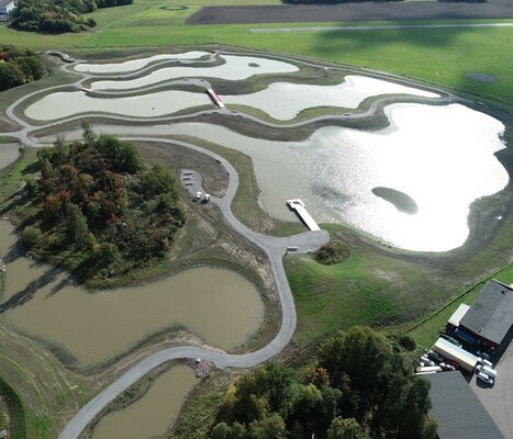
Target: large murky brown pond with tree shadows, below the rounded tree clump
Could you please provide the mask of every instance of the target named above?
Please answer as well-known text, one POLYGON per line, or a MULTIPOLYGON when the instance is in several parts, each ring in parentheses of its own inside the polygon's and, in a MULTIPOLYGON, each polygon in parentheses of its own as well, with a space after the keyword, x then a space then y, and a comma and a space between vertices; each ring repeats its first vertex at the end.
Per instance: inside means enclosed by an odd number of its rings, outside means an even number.
POLYGON ((19 256, 14 241, 12 226, 0 222, 0 255, 8 262, 1 320, 81 364, 121 354, 171 326, 228 350, 264 318, 259 292, 233 271, 191 269, 142 286, 88 293, 52 267, 19 256))

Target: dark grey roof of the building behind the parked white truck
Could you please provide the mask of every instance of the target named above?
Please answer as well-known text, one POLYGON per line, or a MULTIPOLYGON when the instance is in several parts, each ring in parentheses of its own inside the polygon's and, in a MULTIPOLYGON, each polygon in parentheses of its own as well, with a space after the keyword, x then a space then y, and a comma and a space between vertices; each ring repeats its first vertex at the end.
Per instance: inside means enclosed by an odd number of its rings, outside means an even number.
POLYGON ((479 293, 459 326, 490 347, 498 347, 513 324, 513 289, 491 280, 479 293))

